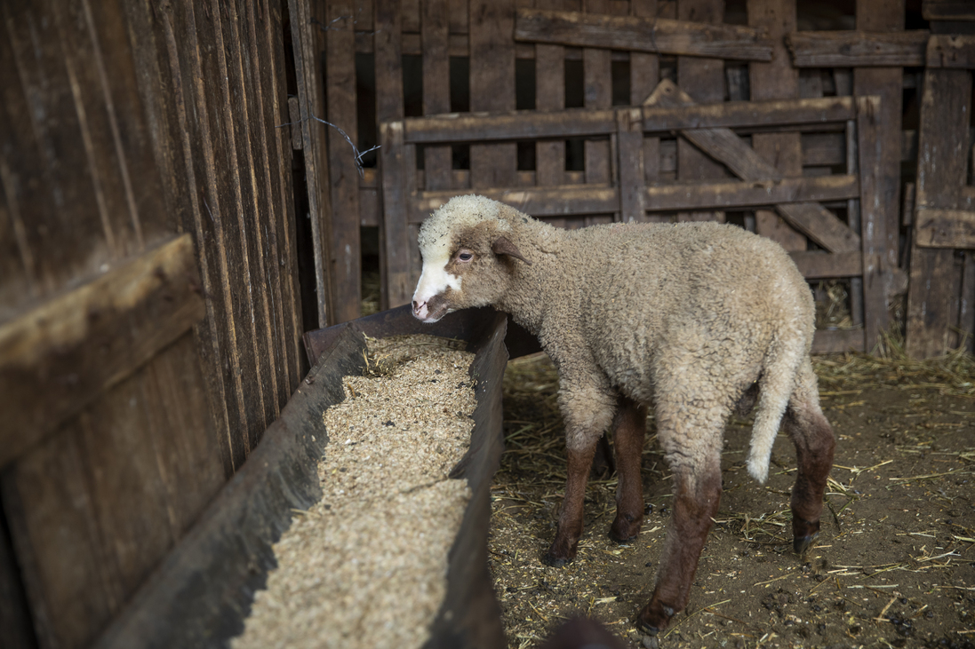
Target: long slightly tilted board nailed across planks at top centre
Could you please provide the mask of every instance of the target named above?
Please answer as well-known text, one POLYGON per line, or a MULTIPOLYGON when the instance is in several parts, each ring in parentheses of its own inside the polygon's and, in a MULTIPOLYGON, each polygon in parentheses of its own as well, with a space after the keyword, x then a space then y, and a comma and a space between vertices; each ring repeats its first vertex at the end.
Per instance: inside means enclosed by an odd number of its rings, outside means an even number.
POLYGON ((692 57, 771 58, 771 48, 755 29, 701 20, 519 9, 515 39, 692 57))

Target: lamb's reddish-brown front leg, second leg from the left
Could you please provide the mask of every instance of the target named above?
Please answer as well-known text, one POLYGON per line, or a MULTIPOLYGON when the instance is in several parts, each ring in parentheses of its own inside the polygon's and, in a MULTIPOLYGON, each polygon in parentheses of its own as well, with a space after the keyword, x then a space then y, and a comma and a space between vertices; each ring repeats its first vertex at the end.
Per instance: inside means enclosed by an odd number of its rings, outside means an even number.
POLYGON ((609 538, 624 543, 640 534, 643 524, 643 482, 640 477, 646 408, 635 401, 621 399, 613 421, 613 446, 616 450, 616 518, 609 538))

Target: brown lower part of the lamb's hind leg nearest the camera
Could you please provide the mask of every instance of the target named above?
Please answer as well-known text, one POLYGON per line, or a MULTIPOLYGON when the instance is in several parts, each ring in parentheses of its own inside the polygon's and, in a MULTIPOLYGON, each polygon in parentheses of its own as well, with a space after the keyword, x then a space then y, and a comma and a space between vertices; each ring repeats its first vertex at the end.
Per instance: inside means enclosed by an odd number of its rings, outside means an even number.
POLYGON ((657 585, 650 602, 637 617, 637 626, 650 636, 667 627, 690 597, 697 561, 718 512, 722 495, 721 455, 702 458, 704 466, 674 473, 674 515, 660 557, 657 585))

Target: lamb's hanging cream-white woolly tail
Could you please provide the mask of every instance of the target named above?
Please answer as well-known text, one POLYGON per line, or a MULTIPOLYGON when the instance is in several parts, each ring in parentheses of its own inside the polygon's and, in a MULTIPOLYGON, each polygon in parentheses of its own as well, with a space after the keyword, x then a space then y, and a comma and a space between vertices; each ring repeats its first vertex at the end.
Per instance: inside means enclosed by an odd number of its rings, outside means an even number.
POLYGON ((768 477, 768 459, 779 432, 789 399, 796 387, 796 374, 805 352, 800 338, 773 343, 765 357, 759 379, 759 406, 748 453, 748 473, 759 482, 768 477))

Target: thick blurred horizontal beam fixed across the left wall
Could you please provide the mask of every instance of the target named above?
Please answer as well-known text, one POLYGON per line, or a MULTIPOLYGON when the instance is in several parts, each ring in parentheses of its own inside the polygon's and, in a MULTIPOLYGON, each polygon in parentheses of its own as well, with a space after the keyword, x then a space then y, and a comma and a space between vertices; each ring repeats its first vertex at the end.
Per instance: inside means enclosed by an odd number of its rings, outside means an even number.
POLYGON ((186 234, 0 327, 0 467, 204 316, 186 234))

